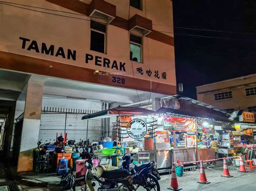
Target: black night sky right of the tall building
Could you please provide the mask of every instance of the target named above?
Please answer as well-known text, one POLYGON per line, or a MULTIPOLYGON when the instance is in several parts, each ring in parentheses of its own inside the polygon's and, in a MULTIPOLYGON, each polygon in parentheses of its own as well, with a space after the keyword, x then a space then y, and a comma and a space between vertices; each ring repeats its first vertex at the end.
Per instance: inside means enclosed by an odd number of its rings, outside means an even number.
POLYGON ((173 17, 184 96, 196 98, 196 86, 256 73, 255 0, 173 0, 173 17))

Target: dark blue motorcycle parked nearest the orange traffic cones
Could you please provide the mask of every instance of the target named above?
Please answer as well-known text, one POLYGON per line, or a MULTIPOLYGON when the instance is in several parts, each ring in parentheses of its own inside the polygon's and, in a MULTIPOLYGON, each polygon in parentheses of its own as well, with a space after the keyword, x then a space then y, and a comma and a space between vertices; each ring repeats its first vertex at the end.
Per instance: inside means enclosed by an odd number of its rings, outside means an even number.
POLYGON ((131 159, 133 153, 126 153, 123 156, 122 169, 127 169, 131 172, 131 177, 133 184, 137 186, 142 186, 146 190, 156 190, 160 191, 160 185, 158 180, 160 180, 160 175, 155 168, 156 162, 151 161, 142 165, 133 165, 131 159))

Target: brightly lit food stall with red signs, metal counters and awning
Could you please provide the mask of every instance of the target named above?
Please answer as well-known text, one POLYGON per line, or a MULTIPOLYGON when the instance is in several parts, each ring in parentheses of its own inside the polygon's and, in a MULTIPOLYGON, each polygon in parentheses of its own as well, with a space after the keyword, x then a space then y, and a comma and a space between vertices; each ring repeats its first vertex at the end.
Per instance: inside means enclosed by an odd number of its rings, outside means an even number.
MULTIPOLYGON (((150 158, 157 162, 158 169, 170 171, 172 162, 177 162, 177 160, 190 162, 215 159, 214 149, 199 146, 197 135, 199 131, 202 131, 202 133, 216 137, 213 127, 217 120, 220 121, 220 118, 215 120, 211 115, 169 108, 160 108, 153 112, 143 108, 118 107, 85 116, 84 119, 90 119, 93 115, 100 118, 110 117, 110 115, 118 117, 118 138, 121 140, 122 147, 135 146, 138 152, 149 152, 142 153, 138 157, 142 161, 134 156, 137 162, 143 163, 150 158), (200 125, 204 122, 211 125, 207 127, 200 125), (170 143, 169 133, 173 135, 173 144, 170 143), (144 161, 143 158, 145 158, 144 161)), ((221 119, 227 120, 224 117, 221 119)), ((125 150, 125 152, 129 152, 129 150, 125 150)))

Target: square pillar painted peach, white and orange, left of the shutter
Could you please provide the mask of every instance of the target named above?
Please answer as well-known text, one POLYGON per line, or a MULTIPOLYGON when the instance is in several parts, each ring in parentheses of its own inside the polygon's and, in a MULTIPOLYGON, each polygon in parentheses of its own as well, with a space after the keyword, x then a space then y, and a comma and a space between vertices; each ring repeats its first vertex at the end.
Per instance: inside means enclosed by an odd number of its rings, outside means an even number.
POLYGON ((33 169, 33 148, 37 147, 39 137, 43 88, 44 81, 40 78, 32 76, 28 81, 17 172, 33 169))

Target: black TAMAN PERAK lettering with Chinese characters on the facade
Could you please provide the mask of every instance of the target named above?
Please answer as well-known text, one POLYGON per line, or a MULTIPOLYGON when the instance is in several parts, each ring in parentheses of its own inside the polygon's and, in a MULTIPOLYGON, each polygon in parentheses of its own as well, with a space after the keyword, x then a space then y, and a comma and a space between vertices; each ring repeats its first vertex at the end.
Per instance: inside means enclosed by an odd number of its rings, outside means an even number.
MULTIPOLYGON (((75 49, 46 44, 25 37, 19 37, 19 40, 21 40, 21 48, 25 49, 26 51, 54 56, 66 60, 77 60, 78 51, 75 49)), ((112 73, 110 74, 123 74, 128 72, 128 66, 124 61, 111 60, 103 56, 92 55, 89 53, 84 53, 84 63, 86 65, 95 65, 97 67, 102 67, 102 69, 109 68, 112 70, 112 73)), ((131 66, 129 67, 131 68, 131 66)), ((150 77, 153 81, 160 80, 161 82, 163 82, 166 81, 168 77, 165 70, 161 71, 160 69, 145 68, 142 64, 140 64, 139 67, 136 67, 136 73, 139 76, 150 77)))

